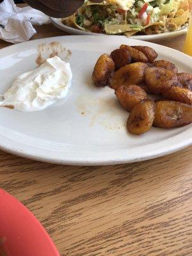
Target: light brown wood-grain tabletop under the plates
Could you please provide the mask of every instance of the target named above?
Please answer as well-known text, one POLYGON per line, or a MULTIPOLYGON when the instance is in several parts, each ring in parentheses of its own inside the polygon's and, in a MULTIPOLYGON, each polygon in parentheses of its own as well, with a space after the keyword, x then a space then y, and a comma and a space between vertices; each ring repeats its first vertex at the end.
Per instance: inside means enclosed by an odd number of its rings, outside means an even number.
MULTIPOLYGON (((49 24, 33 39, 59 35, 65 33, 49 24)), ((158 43, 182 51, 184 36, 158 43)), ((0 40, 0 48, 7 45, 0 40)), ((189 256, 191 149, 100 167, 39 163, 1 151, 1 188, 35 214, 62 256, 189 256)))

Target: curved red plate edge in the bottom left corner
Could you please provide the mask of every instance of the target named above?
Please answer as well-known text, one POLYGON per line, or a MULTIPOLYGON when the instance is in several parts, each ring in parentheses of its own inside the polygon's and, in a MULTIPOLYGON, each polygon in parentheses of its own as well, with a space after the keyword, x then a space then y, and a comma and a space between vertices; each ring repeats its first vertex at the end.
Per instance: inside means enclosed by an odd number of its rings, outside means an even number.
POLYGON ((0 189, 0 237, 5 239, 8 256, 60 256, 32 212, 3 189, 0 189))

